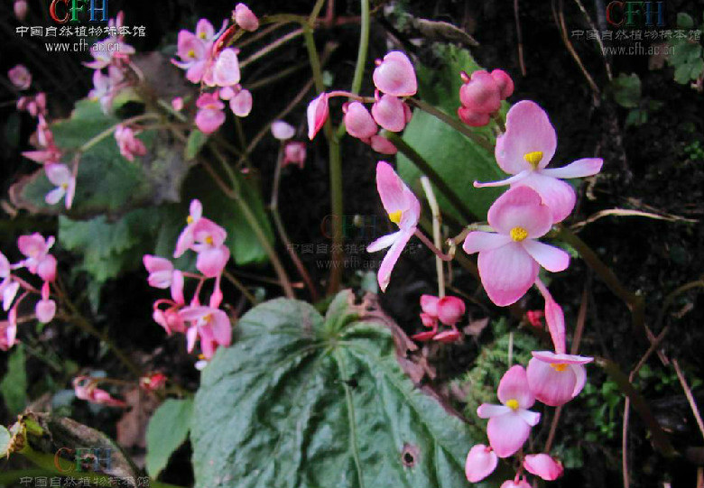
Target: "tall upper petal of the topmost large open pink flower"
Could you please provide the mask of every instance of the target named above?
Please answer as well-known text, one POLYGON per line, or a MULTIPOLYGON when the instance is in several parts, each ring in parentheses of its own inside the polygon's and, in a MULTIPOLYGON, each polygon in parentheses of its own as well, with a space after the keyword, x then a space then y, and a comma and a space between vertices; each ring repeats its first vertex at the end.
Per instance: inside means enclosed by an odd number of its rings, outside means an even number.
POLYGON ((535 102, 518 102, 506 114, 506 132, 496 141, 496 162, 502 170, 515 174, 532 170, 525 161, 529 152, 542 152, 538 168, 548 165, 557 147, 557 134, 544 110, 535 102))

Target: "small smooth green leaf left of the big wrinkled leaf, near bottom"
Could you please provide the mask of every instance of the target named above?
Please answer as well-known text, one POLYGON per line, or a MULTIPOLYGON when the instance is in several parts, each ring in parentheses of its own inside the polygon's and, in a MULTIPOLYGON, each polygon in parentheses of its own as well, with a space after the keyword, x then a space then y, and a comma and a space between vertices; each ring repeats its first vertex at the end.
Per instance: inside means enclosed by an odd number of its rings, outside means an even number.
POLYGON ((149 419, 146 433, 146 470, 153 478, 162 472, 171 454, 186 441, 192 411, 192 399, 169 399, 164 401, 149 419))

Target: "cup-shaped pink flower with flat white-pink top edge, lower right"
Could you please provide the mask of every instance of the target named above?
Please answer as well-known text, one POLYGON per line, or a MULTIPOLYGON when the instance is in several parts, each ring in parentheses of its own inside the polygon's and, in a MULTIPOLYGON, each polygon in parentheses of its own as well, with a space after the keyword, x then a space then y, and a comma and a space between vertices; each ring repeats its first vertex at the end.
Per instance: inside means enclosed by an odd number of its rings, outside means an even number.
POLYGON ((551 407, 564 405, 579 395, 587 382, 584 364, 592 357, 533 351, 528 363, 528 385, 539 401, 551 407))

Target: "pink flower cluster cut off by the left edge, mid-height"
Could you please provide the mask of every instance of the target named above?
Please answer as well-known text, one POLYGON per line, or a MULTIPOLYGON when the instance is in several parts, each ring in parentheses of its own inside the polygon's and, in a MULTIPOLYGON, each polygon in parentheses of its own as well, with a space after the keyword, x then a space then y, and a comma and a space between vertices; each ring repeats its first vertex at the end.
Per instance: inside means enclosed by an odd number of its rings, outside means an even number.
POLYGON ((53 237, 45 239, 39 233, 21 235, 17 239, 17 247, 24 259, 11 263, 4 253, 0 253, 0 297, 3 300, 3 310, 7 312, 7 320, 0 321, 0 349, 3 351, 17 342, 17 324, 21 321, 17 311, 28 296, 34 294, 39 297, 34 305, 34 314, 29 318, 47 323, 56 315, 56 302, 51 299, 51 283, 56 280, 57 262, 49 253, 53 244, 53 237), (20 270, 39 277, 43 281, 41 290, 17 276, 16 273, 20 270))

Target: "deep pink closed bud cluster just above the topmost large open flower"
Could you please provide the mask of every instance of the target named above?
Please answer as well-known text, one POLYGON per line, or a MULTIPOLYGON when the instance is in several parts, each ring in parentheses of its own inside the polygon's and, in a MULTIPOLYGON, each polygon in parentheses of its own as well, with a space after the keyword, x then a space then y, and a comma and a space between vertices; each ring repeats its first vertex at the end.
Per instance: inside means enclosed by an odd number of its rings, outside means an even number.
POLYGON ((457 110, 459 120, 472 127, 481 127, 489 123, 493 115, 498 113, 501 100, 514 93, 514 80, 502 69, 487 73, 477 69, 470 77, 462 71, 462 87, 459 88, 459 103, 457 110))

